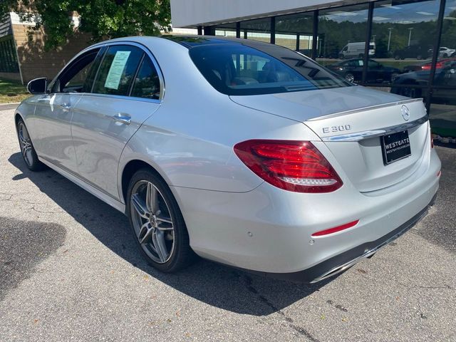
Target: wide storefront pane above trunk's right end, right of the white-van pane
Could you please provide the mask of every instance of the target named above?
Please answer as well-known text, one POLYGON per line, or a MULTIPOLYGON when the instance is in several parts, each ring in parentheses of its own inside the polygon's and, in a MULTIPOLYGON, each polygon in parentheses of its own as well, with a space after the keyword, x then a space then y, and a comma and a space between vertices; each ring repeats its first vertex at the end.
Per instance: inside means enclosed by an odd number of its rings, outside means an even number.
POLYGON ((366 83, 393 83, 393 92, 420 97, 430 76, 440 3, 388 0, 375 3, 371 43, 377 68, 368 68, 366 83), (400 88, 406 85, 406 88, 400 88))

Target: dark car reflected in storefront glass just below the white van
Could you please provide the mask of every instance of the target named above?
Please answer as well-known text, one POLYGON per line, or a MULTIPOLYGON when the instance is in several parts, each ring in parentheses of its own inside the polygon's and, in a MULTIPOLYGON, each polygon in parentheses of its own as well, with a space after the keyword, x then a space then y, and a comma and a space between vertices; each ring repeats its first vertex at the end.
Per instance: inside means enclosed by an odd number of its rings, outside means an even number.
MULTIPOLYGON (((359 82, 363 78, 363 58, 353 58, 347 61, 327 66, 328 69, 334 71, 338 75, 345 78, 350 82, 359 82)), ((400 70, 398 68, 391 68, 390 66, 383 66, 383 64, 368 60, 368 73, 366 74, 366 81, 370 83, 384 83, 390 82, 392 78, 398 76, 400 70)))

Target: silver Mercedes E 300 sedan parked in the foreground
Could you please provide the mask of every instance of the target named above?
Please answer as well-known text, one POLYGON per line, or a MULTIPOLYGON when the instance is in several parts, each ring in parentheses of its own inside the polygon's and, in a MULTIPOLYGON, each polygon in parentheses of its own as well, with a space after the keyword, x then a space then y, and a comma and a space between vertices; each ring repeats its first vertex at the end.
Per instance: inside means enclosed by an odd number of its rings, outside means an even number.
POLYGON ((421 99, 280 46, 114 39, 28 90, 15 115, 28 168, 125 212, 160 271, 199 255, 319 281, 413 227, 439 186, 421 99))

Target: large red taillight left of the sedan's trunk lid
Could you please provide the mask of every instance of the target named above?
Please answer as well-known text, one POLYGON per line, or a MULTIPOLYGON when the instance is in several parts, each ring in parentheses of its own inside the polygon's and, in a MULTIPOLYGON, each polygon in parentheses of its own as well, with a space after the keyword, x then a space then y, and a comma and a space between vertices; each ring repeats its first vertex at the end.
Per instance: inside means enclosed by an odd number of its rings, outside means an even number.
POLYGON ((271 185, 294 192, 332 192, 341 178, 309 141, 247 140, 234 152, 271 185))

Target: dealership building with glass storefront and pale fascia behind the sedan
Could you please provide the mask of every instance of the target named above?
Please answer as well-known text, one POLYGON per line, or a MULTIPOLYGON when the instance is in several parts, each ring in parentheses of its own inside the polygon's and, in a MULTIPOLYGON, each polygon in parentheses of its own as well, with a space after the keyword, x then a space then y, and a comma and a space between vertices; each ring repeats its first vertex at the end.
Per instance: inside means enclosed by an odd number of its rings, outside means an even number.
POLYGON ((173 27, 275 43, 362 86, 423 97, 434 132, 456 137, 456 0, 171 0, 171 14, 173 27))

